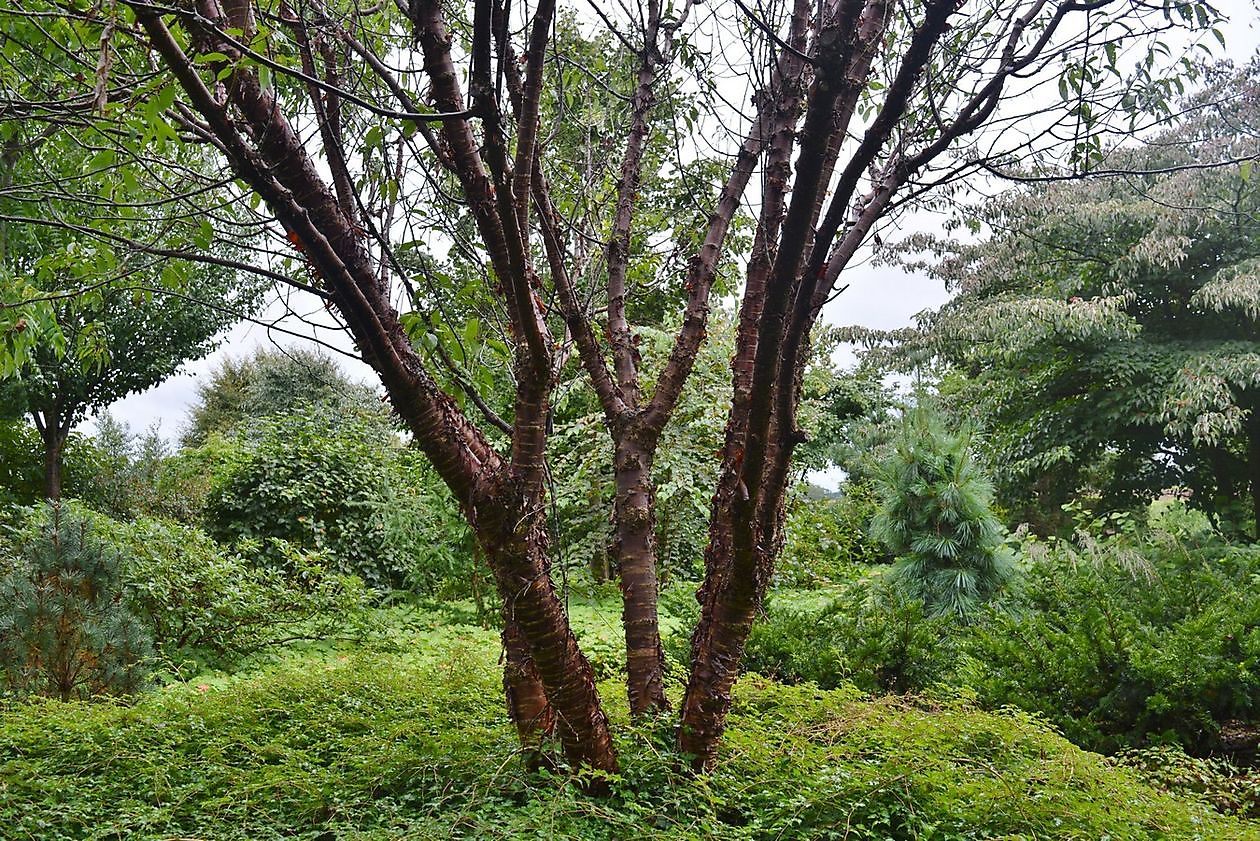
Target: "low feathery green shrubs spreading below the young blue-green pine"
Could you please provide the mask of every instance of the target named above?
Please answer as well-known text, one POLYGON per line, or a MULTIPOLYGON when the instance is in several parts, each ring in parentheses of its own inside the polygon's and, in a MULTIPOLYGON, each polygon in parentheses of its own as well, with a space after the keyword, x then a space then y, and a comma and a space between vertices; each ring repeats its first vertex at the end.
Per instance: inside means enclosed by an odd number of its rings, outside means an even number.
POLYGON ((1172 743, 1250 762, 1260 748, 1260 547, 1157 525, 1026 542, 1021 585, 966 623, 878 579, 825 599, 779 593, 745 664, 824 687, 953 686, 989 709, 1037 712, 1104 753, 1172 743))

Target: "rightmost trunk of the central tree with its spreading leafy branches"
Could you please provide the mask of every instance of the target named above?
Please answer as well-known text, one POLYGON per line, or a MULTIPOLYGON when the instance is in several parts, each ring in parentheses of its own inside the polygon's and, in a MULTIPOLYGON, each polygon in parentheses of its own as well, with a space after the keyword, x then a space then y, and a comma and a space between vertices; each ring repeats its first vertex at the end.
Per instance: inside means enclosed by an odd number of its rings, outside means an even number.
MULTIPOLYGON (((766 151, 683 702, 679 745, 697 767, 716 760, 740 654, 781 545, 789 467, 803 440, 801 369, 840 274, 877 223, 932 190, 948 195, 969 170, 1048 150, 1062 154, 1061 166, 1094 165, 1118 110, 1140 102, 1159 111, 1181 84, 1152 78, 1152 54, 1116 86, 1121 47, 1174 18, 1207 26, 1215 13, 1188 4, 794 5, 781 61, 804 61, 803 96, 779 100, 781 122, 766 151), (1061 102, 1042 91, 1055 66, 1066 68, 1061 102)), ((1157 40, 1152 49, 1163 48, 1157 40)))

